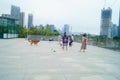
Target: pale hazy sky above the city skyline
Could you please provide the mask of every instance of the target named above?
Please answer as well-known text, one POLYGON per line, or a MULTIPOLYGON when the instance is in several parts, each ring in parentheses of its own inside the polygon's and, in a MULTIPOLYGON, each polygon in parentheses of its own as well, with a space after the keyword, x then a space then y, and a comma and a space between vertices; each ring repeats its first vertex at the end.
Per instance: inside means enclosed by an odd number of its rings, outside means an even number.
MULTIPOLYGON (((11 5, 34 16, 34 25, 55 24, 62 29, 64 24, 72 27, 72 32, 100 33, 101 9, 105 0, 0 0, 0 14, 10 14, 11 5)), ((105 7, 112 8, 112 22, 118 25, 120 0, 106 0, 105 7)))

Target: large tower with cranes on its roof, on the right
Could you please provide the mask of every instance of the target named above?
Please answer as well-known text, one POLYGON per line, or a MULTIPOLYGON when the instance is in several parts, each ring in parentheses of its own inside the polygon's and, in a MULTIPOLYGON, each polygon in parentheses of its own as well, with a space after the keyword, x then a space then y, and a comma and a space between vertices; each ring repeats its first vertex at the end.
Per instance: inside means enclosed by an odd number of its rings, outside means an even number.
POLYGON ((100 35, 111 37, 111 27, 112 27, 111 19, 112 19, 112 9, 110 7, 107 9, 102 9, 100 35))

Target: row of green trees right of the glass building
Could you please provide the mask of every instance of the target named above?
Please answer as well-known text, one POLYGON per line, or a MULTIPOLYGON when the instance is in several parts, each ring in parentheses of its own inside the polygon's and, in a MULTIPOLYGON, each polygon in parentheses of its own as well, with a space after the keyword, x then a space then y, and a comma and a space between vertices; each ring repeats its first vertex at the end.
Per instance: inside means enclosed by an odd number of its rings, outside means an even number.
POLYGON ((26 37, 27 36, 27 31, 28 31, 28 35, 45 35, 45 36, 55 36, 55 35, 59 35, 59 32, 57 30, 54 30, 53 32, 50 30, 49 25, 47 24, 45 29, 41 29, 41 28, 37 28, 37 27, 31 27, 28 28, 28 30, 26 28, 24 28, 23 26, 19 25, 19 37, 26 37))

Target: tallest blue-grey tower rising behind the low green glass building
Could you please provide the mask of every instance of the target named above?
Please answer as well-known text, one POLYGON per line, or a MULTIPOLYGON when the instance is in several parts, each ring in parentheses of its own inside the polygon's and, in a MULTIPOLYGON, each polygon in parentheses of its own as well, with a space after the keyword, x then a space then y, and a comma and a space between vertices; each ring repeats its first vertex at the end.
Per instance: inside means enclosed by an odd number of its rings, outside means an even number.
POLYGON ((20 7, 12 5, 11 16, 19 20, 20 19, 20 7))

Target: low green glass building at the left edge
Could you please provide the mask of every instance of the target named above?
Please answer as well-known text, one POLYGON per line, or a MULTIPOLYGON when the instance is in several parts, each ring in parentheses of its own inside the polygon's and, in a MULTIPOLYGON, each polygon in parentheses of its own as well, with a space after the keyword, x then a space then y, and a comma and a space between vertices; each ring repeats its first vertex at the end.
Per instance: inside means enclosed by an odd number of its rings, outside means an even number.
POLYGON ((9 14, 0 16, 0 38, 18 37, 17 19, 9 14))

